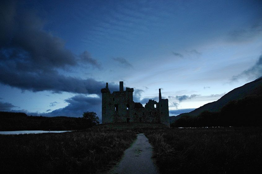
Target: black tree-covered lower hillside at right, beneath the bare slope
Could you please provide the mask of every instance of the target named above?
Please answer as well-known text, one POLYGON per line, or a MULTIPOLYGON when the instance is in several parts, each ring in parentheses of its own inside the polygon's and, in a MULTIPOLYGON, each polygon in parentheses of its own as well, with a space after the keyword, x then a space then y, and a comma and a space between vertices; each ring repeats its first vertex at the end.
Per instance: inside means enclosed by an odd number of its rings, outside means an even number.
POLYGON ((262 126, 262 96, 228 102, 219 112, 203 111, 197 117, 181 116, 171 127, 262 126))

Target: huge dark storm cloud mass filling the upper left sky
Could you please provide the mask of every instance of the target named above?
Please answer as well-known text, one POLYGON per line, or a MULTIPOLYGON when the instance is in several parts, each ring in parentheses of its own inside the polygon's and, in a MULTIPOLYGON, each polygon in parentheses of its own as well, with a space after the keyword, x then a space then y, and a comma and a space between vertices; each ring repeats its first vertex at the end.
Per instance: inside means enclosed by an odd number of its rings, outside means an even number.
MULTIPOLYGON (((0 18, 0 83, 22 90, 100 94, 104 82, 64 76, 76 68, 77 58, 64 41, 43 30, 43 22, 29 12, 3 2, 0 18)), ((84 52, 83 61, 99 67, 84 52)))

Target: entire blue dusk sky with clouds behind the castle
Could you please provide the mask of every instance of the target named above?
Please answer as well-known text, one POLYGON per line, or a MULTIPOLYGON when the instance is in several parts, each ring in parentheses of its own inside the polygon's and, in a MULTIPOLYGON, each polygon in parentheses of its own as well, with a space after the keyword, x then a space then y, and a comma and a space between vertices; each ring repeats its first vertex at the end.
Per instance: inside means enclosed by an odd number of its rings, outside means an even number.
POLYGON ((75 116, 119 81, 170 116, 262 76, 261 1, 3 1, 0 110, 75 116))

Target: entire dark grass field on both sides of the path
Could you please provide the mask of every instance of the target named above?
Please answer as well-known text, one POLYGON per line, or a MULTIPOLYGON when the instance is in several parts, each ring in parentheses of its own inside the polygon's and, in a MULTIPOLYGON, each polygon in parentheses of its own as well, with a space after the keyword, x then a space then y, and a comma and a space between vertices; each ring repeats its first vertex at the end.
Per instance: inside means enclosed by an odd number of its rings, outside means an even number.
POLYGON ((145 133, 161 173, 262 170, 262 128, 105 124, 68 133, 0 135, 1 173, 103 173, 145 133))

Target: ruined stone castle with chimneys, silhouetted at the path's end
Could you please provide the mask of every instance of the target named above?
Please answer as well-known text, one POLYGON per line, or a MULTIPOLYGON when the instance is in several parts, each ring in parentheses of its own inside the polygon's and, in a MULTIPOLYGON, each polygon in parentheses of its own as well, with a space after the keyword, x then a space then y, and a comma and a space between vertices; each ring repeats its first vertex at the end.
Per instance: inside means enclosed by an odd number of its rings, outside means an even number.
POLYGON ((102 123, 121 122, 147 122, 162 123, 169 127, 168 99, 162 99, 159 89, 159 102, 149 100, 145 107, 141 103, 133 101, 133 88, 126 88, 124 82, 119 82, 119 91, 112 94, 106 88, 101 89, 102 93, 102 123))

